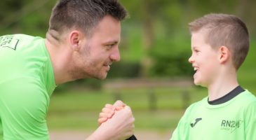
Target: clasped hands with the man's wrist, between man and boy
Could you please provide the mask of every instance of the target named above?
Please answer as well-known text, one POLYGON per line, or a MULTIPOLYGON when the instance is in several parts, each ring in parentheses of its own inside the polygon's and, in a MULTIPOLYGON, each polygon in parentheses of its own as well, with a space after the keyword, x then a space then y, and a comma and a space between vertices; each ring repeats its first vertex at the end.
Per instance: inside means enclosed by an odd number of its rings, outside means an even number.
MULTIPOLYGON (((128 139, 134 133, 134 121, 133 113, 130 109, 130 106, 126 106, 121 101, 117 101, 114 106, 114 114, 112 112, 113 106, 108 104, 106 105, 105 112, 106 114, 111 114, 102 118, 107 118, 104 123, 95 130, 93 134, 88 137, 89 139, 97 140, 123 140, 128 139), (107 106, 107 107, 106 107, 107 106)), ((102 109, 102 110, 103 110, 102 109)), ((100 118, 99 118, 100 120, 100 118)), ((103 120, 103 119, 102 119, 103 120)))

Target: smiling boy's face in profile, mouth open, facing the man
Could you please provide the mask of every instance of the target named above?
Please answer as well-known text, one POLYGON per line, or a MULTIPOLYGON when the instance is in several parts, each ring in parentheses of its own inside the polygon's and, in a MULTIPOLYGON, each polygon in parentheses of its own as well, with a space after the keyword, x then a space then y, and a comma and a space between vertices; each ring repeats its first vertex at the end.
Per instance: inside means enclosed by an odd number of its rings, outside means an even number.
POLYGON ((217 50, 213 50, 205 41, 206 30, 193 32, 191 36, 191 51, 189 62, 194 67, 194 83, 208 87, 214 82, 219 68, 217 50))

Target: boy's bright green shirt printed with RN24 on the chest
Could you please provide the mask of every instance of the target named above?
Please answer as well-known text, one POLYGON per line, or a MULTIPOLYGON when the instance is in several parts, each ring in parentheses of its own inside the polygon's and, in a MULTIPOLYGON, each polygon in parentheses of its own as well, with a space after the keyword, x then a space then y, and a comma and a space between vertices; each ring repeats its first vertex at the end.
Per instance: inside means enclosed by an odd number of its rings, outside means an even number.
POLYGON ((191 104, 171 140, 256 139, 256 98, 248 90, 218 105, 208 98, 191 104))

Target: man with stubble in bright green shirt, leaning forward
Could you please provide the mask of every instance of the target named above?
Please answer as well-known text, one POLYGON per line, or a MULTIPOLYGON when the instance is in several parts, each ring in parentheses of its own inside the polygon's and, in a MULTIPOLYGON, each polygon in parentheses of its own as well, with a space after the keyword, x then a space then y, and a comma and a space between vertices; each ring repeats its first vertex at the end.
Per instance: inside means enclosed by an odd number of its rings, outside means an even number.
MULTIPOLYGON (((0 37, 0 139, 49 139, 46 113, 56 85, 80 78, 105 79, 120 60, 117 0, 60 0, 46 38, 0 37)), ((117 103, 123 104, 123 103, 117 103)), ((134 118, 129 106, 102 123, 89 139, 127 139, 134 118)))

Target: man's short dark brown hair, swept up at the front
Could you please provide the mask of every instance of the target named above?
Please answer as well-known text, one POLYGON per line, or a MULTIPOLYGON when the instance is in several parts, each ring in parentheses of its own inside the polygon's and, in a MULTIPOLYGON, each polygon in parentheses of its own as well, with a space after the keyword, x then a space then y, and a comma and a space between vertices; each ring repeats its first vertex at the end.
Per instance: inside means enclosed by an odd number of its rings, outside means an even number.
POLYGON ((49 30, 61 34, 75 28, 90 36, 105 15, 121 21, 128 13, 118 0, 60 0, 53 8, 49 30))

